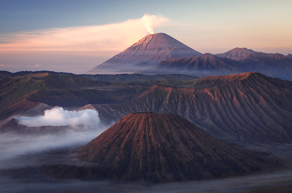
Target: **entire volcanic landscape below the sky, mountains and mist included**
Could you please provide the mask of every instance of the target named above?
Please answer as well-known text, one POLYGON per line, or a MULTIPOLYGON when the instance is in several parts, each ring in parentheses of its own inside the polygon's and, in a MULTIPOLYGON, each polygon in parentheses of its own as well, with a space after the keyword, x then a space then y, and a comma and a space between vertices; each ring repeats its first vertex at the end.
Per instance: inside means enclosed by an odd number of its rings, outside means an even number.
POLYGON ((4 192, 291 189, 291 54, 159 33, 87 73, 0 71, 4 192))

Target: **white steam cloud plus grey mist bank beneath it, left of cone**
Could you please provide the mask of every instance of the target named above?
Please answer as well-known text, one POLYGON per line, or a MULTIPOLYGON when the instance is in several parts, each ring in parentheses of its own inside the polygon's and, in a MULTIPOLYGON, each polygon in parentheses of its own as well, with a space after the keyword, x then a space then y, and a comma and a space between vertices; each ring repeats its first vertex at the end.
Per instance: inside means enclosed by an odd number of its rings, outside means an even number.
POLYGON ((68 111, 62 107, 46 110, 43 116, 15 117, 19 124, 36 126, 66 126, 70 129, 51 134, 2 133, 0 135, 0 169, 13 167, 16 156, 35 152, 81 146, 96 138, 109 126, 100 123, 98 112, 93 109, 68 111))

